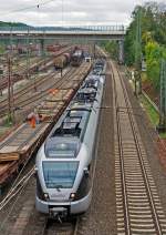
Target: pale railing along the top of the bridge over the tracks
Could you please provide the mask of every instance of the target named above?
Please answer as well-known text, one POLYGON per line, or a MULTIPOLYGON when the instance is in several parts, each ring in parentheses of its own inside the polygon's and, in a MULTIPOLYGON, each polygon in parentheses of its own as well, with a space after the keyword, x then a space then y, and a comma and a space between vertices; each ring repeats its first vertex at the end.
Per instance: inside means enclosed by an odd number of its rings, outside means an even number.
POLYGON ((125 31, 123 24, 117 25, 68 25, 68 27, 0 27, 0 31, 14 32, 14 31, 125 31))

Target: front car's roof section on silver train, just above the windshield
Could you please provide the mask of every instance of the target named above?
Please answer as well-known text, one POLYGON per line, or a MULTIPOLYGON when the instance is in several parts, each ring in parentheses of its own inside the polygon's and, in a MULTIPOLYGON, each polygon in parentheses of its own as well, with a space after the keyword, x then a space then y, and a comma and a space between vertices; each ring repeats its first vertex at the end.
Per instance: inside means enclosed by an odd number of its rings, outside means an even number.
POLYGON ((45 141, 46 159, 74 159, 80 150, 90 116, 90 109, 72 106, 66 116, 45 141))

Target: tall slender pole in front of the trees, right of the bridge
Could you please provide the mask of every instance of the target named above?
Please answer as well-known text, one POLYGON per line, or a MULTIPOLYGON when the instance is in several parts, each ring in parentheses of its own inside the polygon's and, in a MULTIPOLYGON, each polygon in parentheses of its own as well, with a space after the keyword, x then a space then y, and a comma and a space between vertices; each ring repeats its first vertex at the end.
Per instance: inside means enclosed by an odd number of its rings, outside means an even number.
POLYGON ((135 41, 135 94, 137 95, 138 81, 138 94, 142 94, 142 29, 141 29, 142 9, 138 7, 136 12, 136 41, 135 41))

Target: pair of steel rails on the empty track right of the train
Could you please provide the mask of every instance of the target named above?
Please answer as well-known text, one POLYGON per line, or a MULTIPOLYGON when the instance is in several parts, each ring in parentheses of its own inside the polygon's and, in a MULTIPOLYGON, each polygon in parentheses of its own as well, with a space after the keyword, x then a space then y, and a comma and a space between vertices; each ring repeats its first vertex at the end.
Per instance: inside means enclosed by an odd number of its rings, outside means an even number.
MULTIPOLYGON (((112 67, 113 67, 113 64, 112 64, 112 67)), ((138 157, 139 167, 141 167, 141 171, 142 171, 142 176, 144 178, 146 194, 147 194, 148 202, 149 202, 149 205, 151 205, 151 211, 152 211, 152 214, 153 214, 155 231, 156 231, 156 234, 162 235, 163 231, 162 231, 162 227, 160 227, 159 217, 158 217, 157 210, 156 210, 156 206, 155 206, 154 195, 153 195, 153 192, 151 190, 151 184, 149 184, 148 175, 147 175, 147 172, 146 172, 146 166, 145 166, 144 159, 143 159, 143 155, 142 155, 142 147, 141 147, 138 134, 137 134, 137 131, 136 131, 136 127, 135 127, 134 115, 129 111, 129 109, 131 109, 129 103, 131 102, 128 100, 127 90, 125 88, 125 84, 124 84, 124 81, 122 79, 120 71, 117 69, 116 69, 116 71, 117 71, 118 79, 120 79, 120 82, 121 82, 121 86, 122 86, 122 90, 123 90, 123 96, 124 96, 125 105, 127 108, 126 113, 127 113, 127 116, 128 116, 128 121, 131 123, 129 125, 131 125, 131 130, 132 130, 132 133, 133 133, 133 140, 134 140, 135 147, 136 147, 136 156, 138 157)), ((114 74, 113 74, 113 76, 114 76, 114 74)), ((114 78, 114 83, 115 83, 115 78, 114 78)), ((115 91, 115 92, 117 93, 117 91, 115 91)), ((116 100, 116 95, 115 95, 115 103, 116 103, 116 111, 117 111, 116 112, 116 120, 117 120, 118 149, 120 149, 120 159, 121 159, 122 188, 123 188, 123 195, 124 195, 124 213, 125 213, 125 221, 126 221, 126 225, 127 225, 126 226, 126 234, 129 235, 129 234, 132 234, 132 231, 131 231, 131 223, 129 223, 128 201, 127 201, 128 195, 127 195, 127 188, 126 188, 125 167, 124 167, 124 160, 123 160, 124 156, 123 156, 123 144, 122 144, 122 131, 121 131, 121 122, 120 122, 121 111, 120 111, 120 104, 117 103, 117 100, 116 100)))

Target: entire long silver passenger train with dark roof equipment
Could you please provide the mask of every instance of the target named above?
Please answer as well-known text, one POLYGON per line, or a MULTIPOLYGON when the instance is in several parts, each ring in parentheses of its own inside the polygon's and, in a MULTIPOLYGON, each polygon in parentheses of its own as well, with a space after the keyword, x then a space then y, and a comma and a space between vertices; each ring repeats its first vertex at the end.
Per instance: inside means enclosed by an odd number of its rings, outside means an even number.
POLYGON ((90 206, 104 79, 93 73, 86 78, 37 154, 35 207, 41 213, 66 217, 90 206))

